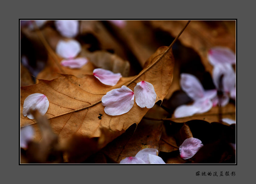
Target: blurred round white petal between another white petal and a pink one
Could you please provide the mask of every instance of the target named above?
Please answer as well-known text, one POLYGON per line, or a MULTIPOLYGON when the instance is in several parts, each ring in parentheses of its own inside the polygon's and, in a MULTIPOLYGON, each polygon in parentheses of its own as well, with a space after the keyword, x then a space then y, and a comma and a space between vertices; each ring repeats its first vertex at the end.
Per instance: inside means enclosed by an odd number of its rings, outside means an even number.
POLYGON ((66 59, 74 58, 81 51, 81 45, 76 40, 60 40, 56 47, 56 53, 66 59))

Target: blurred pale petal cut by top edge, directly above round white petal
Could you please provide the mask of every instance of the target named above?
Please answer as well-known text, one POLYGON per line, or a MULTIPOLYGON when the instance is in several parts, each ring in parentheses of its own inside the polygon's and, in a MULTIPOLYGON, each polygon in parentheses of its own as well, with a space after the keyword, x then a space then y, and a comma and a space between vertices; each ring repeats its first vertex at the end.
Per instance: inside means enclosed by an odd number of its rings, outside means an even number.
POLYGON ((77 20, 58 20, 55 21, 55 25, 64 37, 75 37, 79 31, 79 22, 77 20))

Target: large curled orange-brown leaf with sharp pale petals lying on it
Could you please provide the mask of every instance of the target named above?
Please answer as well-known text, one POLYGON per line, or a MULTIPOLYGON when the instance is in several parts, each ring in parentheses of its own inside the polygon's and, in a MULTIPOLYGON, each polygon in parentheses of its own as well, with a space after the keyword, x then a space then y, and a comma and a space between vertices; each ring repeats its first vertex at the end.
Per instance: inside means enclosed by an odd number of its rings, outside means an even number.
MULTIPOLYGON (((47 96, 50 102, 46 115, 50 117, 50 125, 60 140, 74 133, 88 137, 101 137, 101 128, 108 129, 109 136, 114 139, 133 123, 138 124, 149 109, 140 108, 134 103, 129 112, 110 116, 104 112, 104 106, 101 104, 102 96, 113 88, 120 88, 123 84, 134 90, 136 83, 145 80, 153 84, 157 94, 156 101, 163 100, 172 83, 174 67, 172 51, 170 49, 165 52, 167 48, 160 47, 147 63, 149 66, 150 63, 159 61, 142 70, 138 74, 138 78, 132 83, 130 81, 135 79, 134 77, 123 77, 114 87, 109 87, 101 84, 93 75, 86 75, 82 78, 63 75, 54 80, 39 80, 38 84, 21 87, 21 127, 35 122, 33 119, 28 119, 22 115, 24 100, 32 93, 42 93, 47 96), (84 109, 71 112, 80 108, 84 109), (61 115, 67 112, 71 113, 61 115), (98 118, 99 114, 102 114, 101 119, 98 118)), ((36 124, 33 126, 36 127, 36 124)), ((35 140, 39 140, 40 136, 37 131, 35 140)), ((101 147, 104 147, 106 143, 102 143, 101 147)))

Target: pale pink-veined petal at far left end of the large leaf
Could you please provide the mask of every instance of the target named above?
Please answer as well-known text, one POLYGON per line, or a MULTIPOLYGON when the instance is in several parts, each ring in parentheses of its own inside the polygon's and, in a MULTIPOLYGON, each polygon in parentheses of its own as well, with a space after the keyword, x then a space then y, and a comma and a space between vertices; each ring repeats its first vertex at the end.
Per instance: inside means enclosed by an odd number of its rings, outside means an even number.
POLYGON ((30 114, 30 109, 37 109, 42 115, 45 115, 49 107, 49 101, 44 94, 34 93, 26 97, 23 104, 22 114, 29 119, 34 119, 34 116, 30 114))

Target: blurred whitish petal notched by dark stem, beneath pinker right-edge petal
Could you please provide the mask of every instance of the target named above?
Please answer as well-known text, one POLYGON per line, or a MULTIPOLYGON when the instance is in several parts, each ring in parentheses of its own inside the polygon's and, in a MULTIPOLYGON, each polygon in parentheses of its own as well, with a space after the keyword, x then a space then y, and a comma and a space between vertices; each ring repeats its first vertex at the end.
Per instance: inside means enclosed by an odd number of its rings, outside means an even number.
POLYGON ((213 82, 216 88, 219 88, 219 80, 221 75, 222 85, 224 92, 230 92, 236 83, 236 74, 230 64, 218 64, 214 66, 213 69, 213 82))

